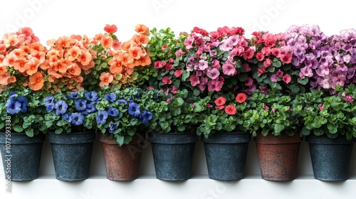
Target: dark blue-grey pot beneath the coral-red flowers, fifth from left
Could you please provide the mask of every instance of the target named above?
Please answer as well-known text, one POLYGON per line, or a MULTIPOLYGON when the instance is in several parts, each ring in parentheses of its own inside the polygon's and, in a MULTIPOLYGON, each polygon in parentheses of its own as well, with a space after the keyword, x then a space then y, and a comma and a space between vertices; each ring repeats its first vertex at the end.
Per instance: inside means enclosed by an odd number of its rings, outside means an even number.
POLYGON ((248 142, 251 134, 244 132, 216 133, 204 142, 209 178, 235 181, 244 178, 248 142))

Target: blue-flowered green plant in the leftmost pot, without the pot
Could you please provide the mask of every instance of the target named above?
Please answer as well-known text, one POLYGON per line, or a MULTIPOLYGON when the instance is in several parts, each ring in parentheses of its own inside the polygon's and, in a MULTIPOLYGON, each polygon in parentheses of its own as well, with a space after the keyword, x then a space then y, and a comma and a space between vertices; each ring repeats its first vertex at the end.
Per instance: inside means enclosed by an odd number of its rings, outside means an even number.
POLYGON ((43 95, 31 92, 28 88, 20 88, 16 92, 4 90, 0 93, 0 131, 7 129, 11 121, 11 131, 35 136, 46 133, 47 126, 43 123, 46 109, 43 109, 43 95))

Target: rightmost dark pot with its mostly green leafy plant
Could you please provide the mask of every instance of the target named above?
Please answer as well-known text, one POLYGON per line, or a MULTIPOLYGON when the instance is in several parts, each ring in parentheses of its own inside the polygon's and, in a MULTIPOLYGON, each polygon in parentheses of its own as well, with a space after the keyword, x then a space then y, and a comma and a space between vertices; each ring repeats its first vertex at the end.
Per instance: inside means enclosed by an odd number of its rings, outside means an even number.
POLYGON ((355 86, 337 95, 312 90, 295 99, 296 114, 303 124, 301 133, 309 143, 314 178, 345 181, 348 178, 354 136, 355 86))

